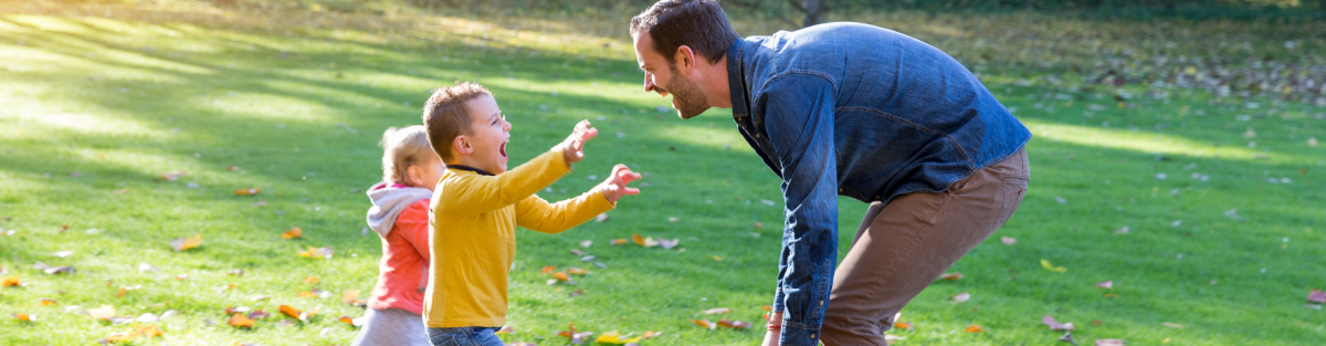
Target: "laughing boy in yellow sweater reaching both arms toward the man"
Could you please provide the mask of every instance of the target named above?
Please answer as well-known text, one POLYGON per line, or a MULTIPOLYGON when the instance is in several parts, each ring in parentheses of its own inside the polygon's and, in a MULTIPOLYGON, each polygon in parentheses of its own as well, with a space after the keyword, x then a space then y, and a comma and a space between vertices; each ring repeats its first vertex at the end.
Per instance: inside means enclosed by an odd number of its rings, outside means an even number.
POLYGON ((477 84, 439 89, 423 109, 428 142, 447 163, 432 196, 428 228, 432 270, 424 293, 424 325, 432 345, 501 346, 493 333, 507 323, 507 280, 516 257, 516 225, 557 233, 615 207, 639 179, 625 164, 574 199, 549 204, 534 192, 570 172, 598 130, 587 121, 525 164, 507 171, 511 123, 492 93, 477 84))

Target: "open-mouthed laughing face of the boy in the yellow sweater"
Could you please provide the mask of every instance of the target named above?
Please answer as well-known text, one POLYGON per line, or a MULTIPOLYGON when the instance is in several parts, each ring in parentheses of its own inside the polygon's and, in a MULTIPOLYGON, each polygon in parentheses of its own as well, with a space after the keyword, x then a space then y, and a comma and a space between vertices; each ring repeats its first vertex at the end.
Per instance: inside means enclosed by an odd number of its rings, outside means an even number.
POLYGON ((491 174, 507 172, 507 142, 511 141, 511 123, 497 107, 492 95, 480 95, 469 102, 469 146, 473 148, 473 164, 491 174))

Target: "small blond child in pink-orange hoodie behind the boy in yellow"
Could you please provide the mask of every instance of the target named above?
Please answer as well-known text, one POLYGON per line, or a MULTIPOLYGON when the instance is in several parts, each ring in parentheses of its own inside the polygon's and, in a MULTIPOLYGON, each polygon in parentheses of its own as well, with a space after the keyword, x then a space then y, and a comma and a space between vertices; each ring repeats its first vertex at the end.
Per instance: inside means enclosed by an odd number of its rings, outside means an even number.
POLYGON ((431 345, 423 323, 428 284, 428 199, 447 167, 423 126, 382 134, 382 183, 369 188, 369 227, 382 236, 378 284, 351 345, 431 345))

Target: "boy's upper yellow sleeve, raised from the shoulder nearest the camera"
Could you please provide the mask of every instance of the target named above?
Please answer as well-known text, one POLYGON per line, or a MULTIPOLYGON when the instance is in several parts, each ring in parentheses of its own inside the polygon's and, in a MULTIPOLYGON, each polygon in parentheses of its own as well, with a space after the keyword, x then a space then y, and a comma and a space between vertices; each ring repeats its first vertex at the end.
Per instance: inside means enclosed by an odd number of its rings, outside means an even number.
POLYGON ((436 194, 438 205, 459 215, 495 211, 533 196, 568 172, 570 168, 562 152, 544 152, 496 176, 468 175, 463 183, 443 179, 436 194))

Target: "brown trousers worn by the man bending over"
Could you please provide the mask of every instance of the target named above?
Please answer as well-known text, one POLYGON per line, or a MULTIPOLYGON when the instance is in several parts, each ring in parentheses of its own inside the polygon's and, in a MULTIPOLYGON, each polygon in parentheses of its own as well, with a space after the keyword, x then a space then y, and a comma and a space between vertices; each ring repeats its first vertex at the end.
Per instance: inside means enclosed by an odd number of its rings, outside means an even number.
POLYGON ((834 273, 823 345, 888 345, 892 316, 1013 216, 1029 176, 1022 148, 944 192, 870 204, 834 273))

